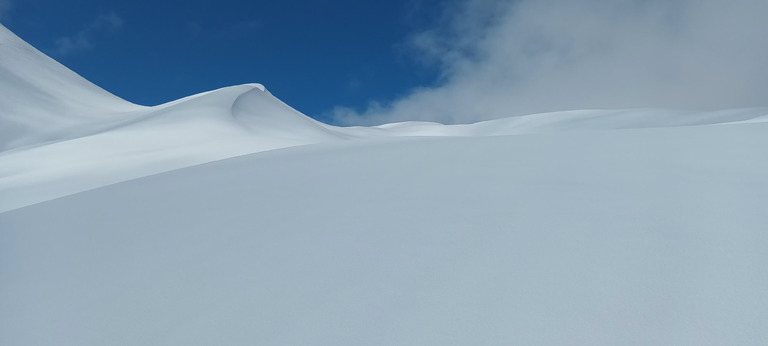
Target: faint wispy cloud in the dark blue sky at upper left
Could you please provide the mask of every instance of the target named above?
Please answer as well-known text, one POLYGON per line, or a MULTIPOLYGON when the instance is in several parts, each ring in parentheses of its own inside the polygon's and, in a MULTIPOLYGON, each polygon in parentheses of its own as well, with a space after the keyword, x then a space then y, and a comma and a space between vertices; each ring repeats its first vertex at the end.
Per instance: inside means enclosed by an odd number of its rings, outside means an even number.
POLYGON ((123 19, 114 12, 99 14, 96 19, 76 34, 56 39, 54 42, 54 53, 66 56, 91 49, 93 48, 94 40, 122 28, 123 23, 123 19))

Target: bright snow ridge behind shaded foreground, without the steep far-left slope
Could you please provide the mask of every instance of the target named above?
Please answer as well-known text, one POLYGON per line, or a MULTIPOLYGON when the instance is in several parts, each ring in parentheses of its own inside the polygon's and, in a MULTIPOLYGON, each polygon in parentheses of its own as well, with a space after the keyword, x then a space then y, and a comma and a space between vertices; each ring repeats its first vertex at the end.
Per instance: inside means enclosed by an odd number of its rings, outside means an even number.
POLYGON ((260 84, 202 93, 92 121, 61 138, 0 152, 0 211, 150 174, 298 145, 404 136, 498 136, 750 121, 768 109, 719 112, 574 111, 469 125, 400 123, 340 128, 289 107, 260 84))

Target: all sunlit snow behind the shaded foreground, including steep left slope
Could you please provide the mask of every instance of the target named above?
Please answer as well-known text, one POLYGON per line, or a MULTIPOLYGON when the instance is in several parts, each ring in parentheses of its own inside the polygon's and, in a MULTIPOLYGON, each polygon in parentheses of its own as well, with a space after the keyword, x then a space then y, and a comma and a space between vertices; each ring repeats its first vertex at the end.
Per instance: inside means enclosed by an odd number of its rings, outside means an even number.
POLYGON ((339 128, 260 84, 156 107, 123 101, 0 25, 0 212, 196 164, 297 145, 370 137, 487 136, 750 121, 768 109, 574 111, 470 125, 339 128), (3 150, 5 149, 5 150, 3 150))

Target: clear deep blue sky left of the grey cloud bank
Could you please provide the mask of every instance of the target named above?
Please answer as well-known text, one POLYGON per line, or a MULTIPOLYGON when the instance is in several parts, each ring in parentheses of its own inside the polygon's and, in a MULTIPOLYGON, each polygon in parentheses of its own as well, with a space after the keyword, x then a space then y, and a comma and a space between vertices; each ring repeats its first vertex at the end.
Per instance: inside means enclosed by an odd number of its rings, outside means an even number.
POLYGON ((364 108, 438 70, 409 35, 446 1, 12 0, 3 24, 85 78, 156 105, 259 82, 307 115, 364 108))

